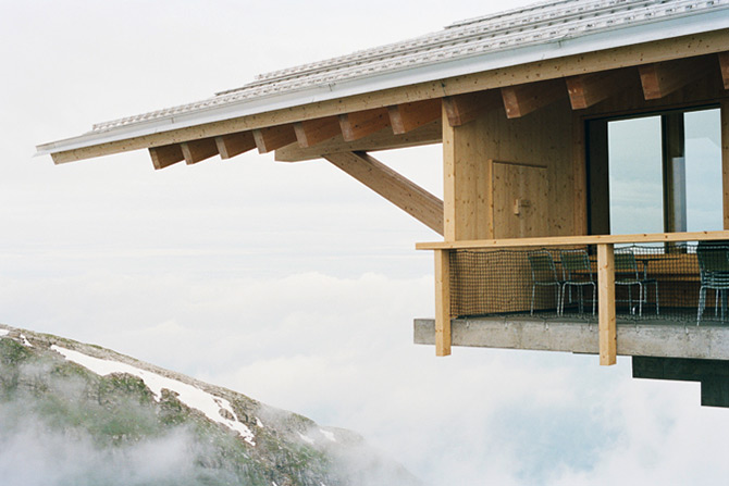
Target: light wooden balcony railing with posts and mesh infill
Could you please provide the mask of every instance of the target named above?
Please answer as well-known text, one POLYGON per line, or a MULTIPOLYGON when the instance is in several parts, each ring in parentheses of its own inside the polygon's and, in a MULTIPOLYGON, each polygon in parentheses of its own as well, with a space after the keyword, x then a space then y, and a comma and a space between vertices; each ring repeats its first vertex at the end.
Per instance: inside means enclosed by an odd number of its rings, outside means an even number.
POLYGON ((729 230, 418 244, 435 251, 436 353, 450 353, 453 317, 521 313, 596 320, 600 362, 614 364, 618 316, 697 323, 699 308, 708 320, 729 314, 729 291, 702 288, 696 257, 695 241, 719 240, 729 230))

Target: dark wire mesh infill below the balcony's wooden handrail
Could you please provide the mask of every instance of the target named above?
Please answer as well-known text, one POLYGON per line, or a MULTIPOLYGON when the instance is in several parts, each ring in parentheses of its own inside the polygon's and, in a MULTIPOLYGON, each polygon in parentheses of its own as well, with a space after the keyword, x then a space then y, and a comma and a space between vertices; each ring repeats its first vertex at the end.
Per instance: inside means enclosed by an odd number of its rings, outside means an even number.
MULTIPOLYGON (((452 314, 596 320, 595 253, 593 246, 454 250, 452 314)), ((615 299, 618 320, 729 324, 729 241, 615 248, 615 299)))

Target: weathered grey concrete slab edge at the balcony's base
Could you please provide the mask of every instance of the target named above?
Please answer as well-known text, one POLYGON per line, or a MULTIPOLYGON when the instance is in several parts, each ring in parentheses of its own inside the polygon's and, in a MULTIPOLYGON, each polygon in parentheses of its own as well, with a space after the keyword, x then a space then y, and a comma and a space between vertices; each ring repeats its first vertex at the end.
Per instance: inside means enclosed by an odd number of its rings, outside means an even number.
MULTIPOLYGON (((597 323, 529 314, 454 319, 453 346, 598 354, 597 323)), ((729 360, 729 324, 669 320, 618 322, 618 354, 729 360)), ((435 346, 435 321, 415 320, 415 344, 435 346)))

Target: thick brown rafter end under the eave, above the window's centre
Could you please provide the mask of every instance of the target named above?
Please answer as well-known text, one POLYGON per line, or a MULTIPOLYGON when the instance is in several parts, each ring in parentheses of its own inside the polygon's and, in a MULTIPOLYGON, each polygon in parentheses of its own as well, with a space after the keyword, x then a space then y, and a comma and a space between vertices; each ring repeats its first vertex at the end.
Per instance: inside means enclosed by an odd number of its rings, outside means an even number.
POLYGON ((656 62, 638 66, 646 100, 657 100, 705 76, 709 63, 703 58, 656 62))

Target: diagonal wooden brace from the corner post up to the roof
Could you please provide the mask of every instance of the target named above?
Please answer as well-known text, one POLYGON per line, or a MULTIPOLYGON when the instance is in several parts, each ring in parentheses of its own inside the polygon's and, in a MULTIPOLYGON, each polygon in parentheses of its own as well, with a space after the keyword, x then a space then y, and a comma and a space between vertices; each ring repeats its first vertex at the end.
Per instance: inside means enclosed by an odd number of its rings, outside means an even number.
POLYGON ((443 235, 443 201, 364 152, 330 153, 324 159, 443 235))

